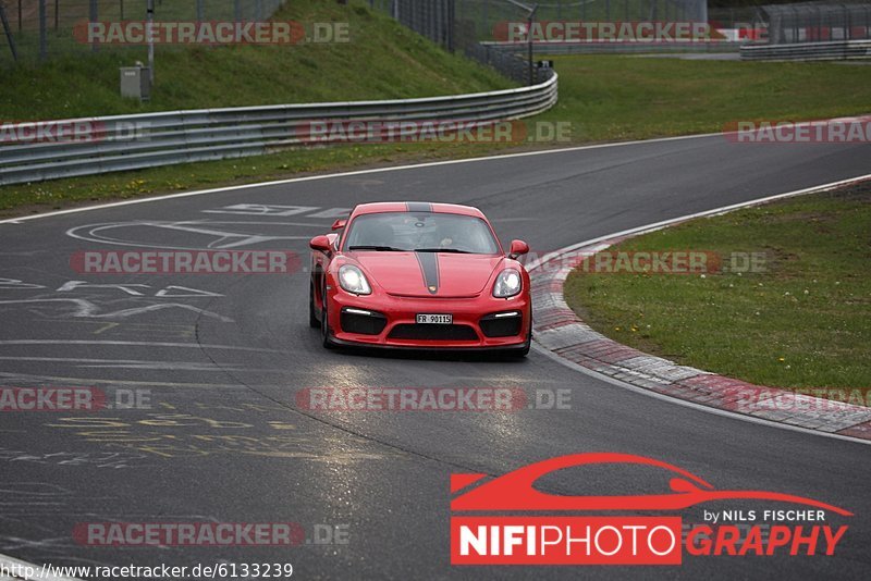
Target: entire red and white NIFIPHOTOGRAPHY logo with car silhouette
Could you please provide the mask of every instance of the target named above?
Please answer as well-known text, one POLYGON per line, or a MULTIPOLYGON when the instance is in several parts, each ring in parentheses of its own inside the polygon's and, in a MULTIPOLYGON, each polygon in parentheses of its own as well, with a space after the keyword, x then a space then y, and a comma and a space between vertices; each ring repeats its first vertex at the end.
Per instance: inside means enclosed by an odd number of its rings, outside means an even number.
POLYGON ((852 517, 843 508, 802 496, 719 491, 676 466, 612 453, 551 458, 492 480, 486 474, 452 474, 451 493, 452 565, 680 565, 685 549, 692 556, 833 555, 849 527, 826 523, 827 514, 852 517), (662 469, 670 477, 671 490, 650 495, 564 496, 535 487, 545 474, 597 465, 662 469), (776 505, 762 510, 704 510, 706 523, 683 522, 680 510, 724 500, 776 505), (601 514, 615 511, 633 514, 601 514), (647 511, 651 516, 637 515, 647 511), (726 523, 736 519, 743 521, 740 526, 726 523))

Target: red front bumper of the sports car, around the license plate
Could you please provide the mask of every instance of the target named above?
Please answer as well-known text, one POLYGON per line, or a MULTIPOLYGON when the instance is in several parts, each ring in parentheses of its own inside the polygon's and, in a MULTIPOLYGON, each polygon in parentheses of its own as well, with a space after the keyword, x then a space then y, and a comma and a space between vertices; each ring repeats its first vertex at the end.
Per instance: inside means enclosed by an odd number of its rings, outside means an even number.
POLYGON ((520 350, 527 345, 531 325, 531 300, 527 292, 508 299, 492 296, 446 299, 355 296, 334 290, 329 300, 330 338, 336 345, 520 350), (418 324, 418 313, 451 314, 453 324, 418 324))

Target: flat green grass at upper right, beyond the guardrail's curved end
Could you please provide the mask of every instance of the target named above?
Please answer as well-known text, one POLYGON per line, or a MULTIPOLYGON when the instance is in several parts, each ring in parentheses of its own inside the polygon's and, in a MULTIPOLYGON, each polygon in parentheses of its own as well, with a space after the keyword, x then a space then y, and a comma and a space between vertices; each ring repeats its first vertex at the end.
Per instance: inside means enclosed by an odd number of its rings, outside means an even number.
POLYGON ((646 139, 723 131, 735 121, 807 121, 871 113, 871 66, 553 57, 575 140, 646 139))

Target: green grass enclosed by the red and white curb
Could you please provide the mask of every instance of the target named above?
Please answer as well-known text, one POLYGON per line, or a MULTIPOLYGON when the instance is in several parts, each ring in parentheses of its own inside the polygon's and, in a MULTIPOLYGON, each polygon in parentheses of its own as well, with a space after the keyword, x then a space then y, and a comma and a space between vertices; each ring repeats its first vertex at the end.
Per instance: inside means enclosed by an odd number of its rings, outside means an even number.
POLYGON ((776 387, 871 386, 871 182, 626 240, 615 250, 765 252, 765 270, 569 275, 569 306, 647 353, 776 387))

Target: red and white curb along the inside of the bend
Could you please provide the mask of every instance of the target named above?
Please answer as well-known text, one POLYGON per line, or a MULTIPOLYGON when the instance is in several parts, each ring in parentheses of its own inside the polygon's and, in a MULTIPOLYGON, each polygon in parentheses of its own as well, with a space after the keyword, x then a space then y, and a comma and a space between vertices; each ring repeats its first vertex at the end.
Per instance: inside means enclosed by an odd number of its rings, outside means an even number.
POLYGON ((871 178, 864 175, 746 203, 717 208, 649 226, 587 240, 543 257, 528 267, 532 277, 532 331, 536 343, 572 367, 580 366, 630 386, 663 396, 788 427, 871 441, 871 408, 753 385, 653 357, 612 341, 586 324, 563 298, 563 285, 581 260, 630 236, 703 215, 725 213, 774 199, 834 189, 871 178))

